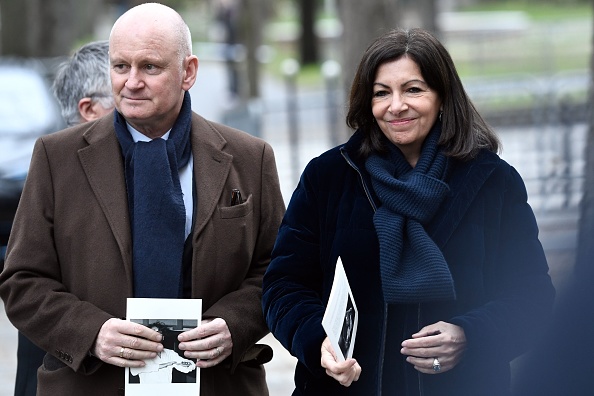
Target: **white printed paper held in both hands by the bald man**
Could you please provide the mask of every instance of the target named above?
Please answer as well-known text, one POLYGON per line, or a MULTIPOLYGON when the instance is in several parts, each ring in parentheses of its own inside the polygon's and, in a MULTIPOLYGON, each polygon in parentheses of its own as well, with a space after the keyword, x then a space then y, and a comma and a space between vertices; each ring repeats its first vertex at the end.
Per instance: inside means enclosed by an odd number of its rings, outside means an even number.
POLYGON ((198 326, 202 300, 129 298, 126 319, 163 334, 165 349, 142 368, 127 368, 126 396, 199 395, 200 369, 179 349, 177 336, 198 326))

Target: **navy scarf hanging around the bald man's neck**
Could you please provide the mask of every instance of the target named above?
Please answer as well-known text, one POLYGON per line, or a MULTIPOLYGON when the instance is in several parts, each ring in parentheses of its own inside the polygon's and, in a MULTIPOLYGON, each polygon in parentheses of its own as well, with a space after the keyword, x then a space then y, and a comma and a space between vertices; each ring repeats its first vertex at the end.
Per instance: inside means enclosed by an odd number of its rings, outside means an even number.
POLYGON ((115 112, 114 126, 124 156, 134 297, 179 298, 186 210, 179 170, 191 155, 192 106, 186 92, 169 138, 134 142, 126 120, 115 112))

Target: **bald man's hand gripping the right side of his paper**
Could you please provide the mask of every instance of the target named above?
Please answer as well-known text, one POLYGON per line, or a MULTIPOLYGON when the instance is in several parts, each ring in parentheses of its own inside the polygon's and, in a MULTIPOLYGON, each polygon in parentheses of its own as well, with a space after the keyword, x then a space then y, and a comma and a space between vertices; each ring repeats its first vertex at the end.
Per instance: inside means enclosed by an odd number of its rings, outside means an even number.
POLYGON ((231 332, 221 318, 203 320, 195 329, 181 333, 178 340, 184 356, 197 359, 200 368, 216 366, 233 351, 231 332))

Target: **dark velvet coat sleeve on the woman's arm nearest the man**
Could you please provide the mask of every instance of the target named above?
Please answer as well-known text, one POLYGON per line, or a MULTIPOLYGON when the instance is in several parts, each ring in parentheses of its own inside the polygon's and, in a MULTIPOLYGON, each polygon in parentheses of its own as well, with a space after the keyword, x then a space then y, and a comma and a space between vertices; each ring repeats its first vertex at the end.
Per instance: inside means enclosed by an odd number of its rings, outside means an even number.
POLYGON ((324 290, 329 290, 333 273, 324 273, 320 263, 319 186, 315 169, 314 159, 291 197, 265 276, 263 307, 268 326, 281 344, 310 372, 323 376, 323 299, 327 301, 324 290))

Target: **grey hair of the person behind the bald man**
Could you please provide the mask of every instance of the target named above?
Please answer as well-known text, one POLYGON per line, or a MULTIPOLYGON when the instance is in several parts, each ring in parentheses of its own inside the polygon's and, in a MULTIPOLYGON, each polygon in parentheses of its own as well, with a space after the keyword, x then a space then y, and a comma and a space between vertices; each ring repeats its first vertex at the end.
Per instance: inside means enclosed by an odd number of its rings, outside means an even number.
POLYGON ((109 42, 93 41, 76 51, 69 60, 59 66, 52 90, 68 126, 82 121, 78 111, 78 102, 82 98, 91 98, 105 109, 113 107, 109 77, 109 42))

